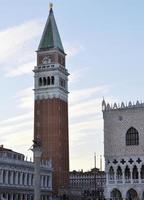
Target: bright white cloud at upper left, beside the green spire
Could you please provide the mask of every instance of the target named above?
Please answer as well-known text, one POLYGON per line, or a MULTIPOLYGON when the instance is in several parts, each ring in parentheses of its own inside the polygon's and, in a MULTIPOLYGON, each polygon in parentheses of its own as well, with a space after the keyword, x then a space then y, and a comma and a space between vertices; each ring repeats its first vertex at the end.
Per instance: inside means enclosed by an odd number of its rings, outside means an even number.
POLYGON ((0 62, 9 61, 14 55, 19 55, 19 51, 25 48, 25 43, 37 37, 41 30, 42 24, 36 20, 1 30, 0 62))

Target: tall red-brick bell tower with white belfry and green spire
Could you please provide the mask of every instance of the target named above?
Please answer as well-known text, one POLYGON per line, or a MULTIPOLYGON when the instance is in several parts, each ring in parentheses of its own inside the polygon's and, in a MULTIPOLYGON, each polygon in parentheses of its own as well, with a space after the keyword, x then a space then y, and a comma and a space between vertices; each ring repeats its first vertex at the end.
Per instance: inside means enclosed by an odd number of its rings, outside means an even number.
POLYGON ((52 160, 53 191, 69 183, 68 71, 65 52, 50 5, 34 68, 34 139, 42 143, 42 159, 52 160))

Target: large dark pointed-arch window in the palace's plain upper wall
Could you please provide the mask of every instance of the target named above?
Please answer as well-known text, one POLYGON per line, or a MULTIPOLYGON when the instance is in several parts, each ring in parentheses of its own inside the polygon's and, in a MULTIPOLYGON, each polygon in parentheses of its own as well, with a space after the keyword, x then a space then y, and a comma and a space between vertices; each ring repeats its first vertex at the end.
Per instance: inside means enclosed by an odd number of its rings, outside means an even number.
POLYGON ((128 129, 128 131, 126 133, 126 145, 127 146, 130 146, 130 145, 139 145, 139 133, 133 127, 131 127, 130 129, 128 129))

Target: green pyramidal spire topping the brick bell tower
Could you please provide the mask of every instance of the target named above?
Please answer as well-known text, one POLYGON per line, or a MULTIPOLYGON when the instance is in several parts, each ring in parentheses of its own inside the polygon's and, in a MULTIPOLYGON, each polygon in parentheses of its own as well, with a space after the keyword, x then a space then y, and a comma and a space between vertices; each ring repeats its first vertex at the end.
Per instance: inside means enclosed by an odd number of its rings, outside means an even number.
POLYGON ((38 51, 50 50, 50 49, 58 49, 64 53, 64 48, 61 42, 61 38, 53 14, 52 4, 50 5, 49 16, 38 47, 38 51))

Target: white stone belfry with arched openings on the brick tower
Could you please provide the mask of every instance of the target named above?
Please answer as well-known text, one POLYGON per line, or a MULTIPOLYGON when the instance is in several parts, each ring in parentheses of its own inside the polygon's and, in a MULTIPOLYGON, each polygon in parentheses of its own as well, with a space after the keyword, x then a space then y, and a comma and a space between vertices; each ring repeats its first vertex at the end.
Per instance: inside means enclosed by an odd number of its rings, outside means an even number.
POLYGON ((63 65, 49 59, 49 55, 54 53, 57 53, 57 50, 38 52, 38 56, 44 54, 44 58, 42 63, 33 70, 35 73, 35 100, 59 98, 68 101, 69 73, 63 65))

